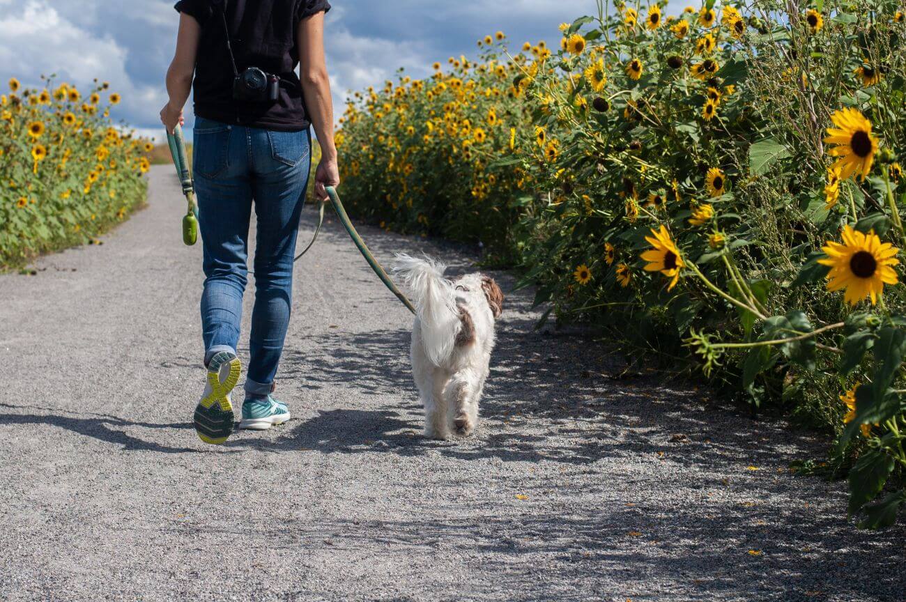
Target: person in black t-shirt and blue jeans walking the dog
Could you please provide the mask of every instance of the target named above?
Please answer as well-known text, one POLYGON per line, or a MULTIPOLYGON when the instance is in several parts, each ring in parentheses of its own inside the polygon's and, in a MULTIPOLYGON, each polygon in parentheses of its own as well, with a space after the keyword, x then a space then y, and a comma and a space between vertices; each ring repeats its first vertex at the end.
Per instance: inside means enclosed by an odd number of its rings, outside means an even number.
POLYGON ((234 425, 231 391, 257 219, 251 359, 240 428, 289 420, 275 375, 293 291, 293 256, 311 166, 313 126, 322 150, 314 194, 337 186, 333 104, 324 62, 327 0, 180 0, 176 55, 167 73, 168 131, 183 122, 194 89, 193 175, 204 246, 201 321, 207 384, 195 411, 198 436, 222 444, 234 425), (297 67, 299 73, 296 73, 297 67), (194 85, 193 85, 194 81, 194 85))

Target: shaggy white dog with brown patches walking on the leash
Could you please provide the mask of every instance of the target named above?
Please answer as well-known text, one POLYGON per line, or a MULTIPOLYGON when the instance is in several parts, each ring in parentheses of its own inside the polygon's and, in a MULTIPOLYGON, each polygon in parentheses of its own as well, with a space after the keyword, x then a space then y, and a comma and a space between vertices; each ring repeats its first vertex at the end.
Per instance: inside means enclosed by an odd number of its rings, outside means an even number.
POLYGON ((494 324, 504 295, 480 273, 449 281, 447 266, 397 255, 393 272, 418 310, 412 329, 412 375, 425 406, 425 436, 468 436, 478 422, 478 400, 487 379, 494 324))

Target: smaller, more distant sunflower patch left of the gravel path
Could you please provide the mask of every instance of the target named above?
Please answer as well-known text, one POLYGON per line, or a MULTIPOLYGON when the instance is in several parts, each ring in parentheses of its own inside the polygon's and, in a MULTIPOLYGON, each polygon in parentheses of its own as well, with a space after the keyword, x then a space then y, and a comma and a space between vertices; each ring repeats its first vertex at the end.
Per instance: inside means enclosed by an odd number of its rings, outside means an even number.
POLYGON ((0 270, 97 243, 145 199, 153 145, 113 126, 120 95, 103 82, 84 96, 43 82, 23 89, 12 79, 0 95, 0 270))

